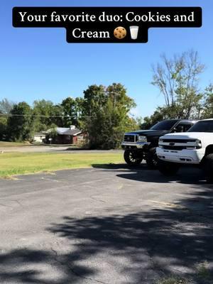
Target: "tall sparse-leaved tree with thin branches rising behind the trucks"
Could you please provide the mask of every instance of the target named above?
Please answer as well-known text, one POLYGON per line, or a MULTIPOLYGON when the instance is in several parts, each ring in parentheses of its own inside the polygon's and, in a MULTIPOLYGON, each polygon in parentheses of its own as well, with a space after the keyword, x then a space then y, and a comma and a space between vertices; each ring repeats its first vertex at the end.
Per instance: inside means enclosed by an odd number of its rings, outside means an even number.
POLYGON ((198 81, 204 70, 197 52, 191 50, 172 59, 165 55, 161 58, 163 63, 153 67, 152 84, 163 94, 167 110, 172 109, 171 118, 195 118, 201 109, 198 81))

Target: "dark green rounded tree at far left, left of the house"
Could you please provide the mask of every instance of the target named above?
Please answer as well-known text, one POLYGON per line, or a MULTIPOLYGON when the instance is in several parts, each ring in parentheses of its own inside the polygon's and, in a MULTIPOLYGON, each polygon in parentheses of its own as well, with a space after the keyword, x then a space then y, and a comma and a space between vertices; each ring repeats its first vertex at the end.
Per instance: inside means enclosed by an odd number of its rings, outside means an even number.
POLYGON ((26 102, 15 104, 8 119, 10 141, 31 140, 34 131, 32 109, 26 102))

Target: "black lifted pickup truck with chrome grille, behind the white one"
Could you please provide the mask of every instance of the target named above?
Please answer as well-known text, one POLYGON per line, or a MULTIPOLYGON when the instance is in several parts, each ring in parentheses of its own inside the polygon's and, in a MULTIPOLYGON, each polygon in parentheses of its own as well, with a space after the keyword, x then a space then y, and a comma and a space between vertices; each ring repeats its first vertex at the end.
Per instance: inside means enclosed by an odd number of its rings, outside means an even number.
POLYGON ((139 130, 124 134, 121 147, 124 149, 124 160, 128 165, 140 165, 146 160, 149 168, 156 168, 158 157, 156 147, 160 136, 167 133, 186 132, 197 121, 186 119, 169 119, 158 122, 149 130, 139 130))

